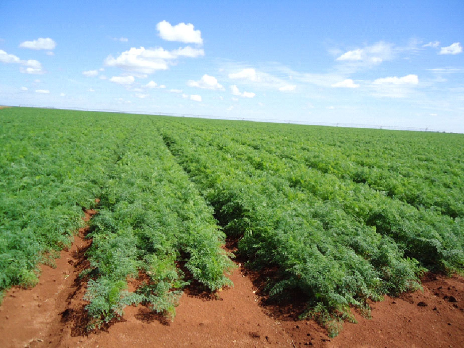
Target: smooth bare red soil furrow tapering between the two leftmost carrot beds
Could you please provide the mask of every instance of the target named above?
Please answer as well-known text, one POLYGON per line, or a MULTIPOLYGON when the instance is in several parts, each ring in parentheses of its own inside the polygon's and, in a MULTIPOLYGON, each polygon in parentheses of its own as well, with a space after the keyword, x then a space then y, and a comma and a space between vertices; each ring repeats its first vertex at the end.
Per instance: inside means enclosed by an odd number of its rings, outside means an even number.
MULTIPOLYGON (((95 214, 95 210, 85 211, 84 221, 95 214)), ((65 334, 61 313, 83 295, 78 294, 82 290, 76 285, 79 273, 87 266, 85 251, 92 243, 84 239, 88 229, 79 229, 71 248, 61 251, 55 260, 56 268, 42 266, 39 284, 32 289, 14 287, 6 292, 0 306, 1 347, 50 346, 49 332, 65 334)))

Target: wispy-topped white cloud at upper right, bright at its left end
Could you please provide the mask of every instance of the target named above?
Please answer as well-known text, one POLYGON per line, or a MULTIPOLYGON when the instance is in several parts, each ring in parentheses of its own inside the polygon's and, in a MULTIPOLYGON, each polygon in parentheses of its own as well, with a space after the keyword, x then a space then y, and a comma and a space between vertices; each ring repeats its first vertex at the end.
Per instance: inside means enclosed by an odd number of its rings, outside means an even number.
POLYGON ((385 60, 392 59, 393 55, 393 45, 380 41, 372 46, 366 46, 364 48, 358 48, 353 51, 345 52, 336 60, 342 62, 380 64, 385 60))

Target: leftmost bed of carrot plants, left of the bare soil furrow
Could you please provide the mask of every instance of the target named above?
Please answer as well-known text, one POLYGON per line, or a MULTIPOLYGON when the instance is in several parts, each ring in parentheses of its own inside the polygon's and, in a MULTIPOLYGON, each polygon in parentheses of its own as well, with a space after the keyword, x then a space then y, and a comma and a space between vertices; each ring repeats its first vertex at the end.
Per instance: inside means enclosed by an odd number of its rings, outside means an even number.
POLYGON ((0 291, 38 282, 95 206, 123 134, 95 114, 4 109, 0 119, 0 291), (88 126, 85 126, 85 125, 88 126))

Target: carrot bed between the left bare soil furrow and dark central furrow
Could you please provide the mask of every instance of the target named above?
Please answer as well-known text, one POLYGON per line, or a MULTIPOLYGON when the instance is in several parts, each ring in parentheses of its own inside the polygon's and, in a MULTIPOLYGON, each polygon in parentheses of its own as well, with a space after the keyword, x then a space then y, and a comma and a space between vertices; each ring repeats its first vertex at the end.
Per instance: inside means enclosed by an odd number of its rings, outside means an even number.
POLYGON ((149 119, 138 119, 108 172, 93 243, 85 299, 90 327, 146 303, 174 318, 182 289, 197 281, 215 291, 231 281, 233 263, 222 248, 224 234, 188 176, 149 119), (146 276, 129 292, 128 280, 146 276))

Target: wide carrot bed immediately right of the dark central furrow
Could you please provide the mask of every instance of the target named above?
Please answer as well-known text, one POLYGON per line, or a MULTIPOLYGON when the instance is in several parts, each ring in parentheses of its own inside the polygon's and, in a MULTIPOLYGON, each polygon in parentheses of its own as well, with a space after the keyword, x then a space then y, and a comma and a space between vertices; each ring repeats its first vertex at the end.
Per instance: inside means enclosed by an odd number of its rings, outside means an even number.
POLYGON ((351 317, 350 305, 367 308, 369 298, 418 287, 417 261, 336 204, 257 168, 217 134, 168 120, 160 132, 224 231, 241 237, 238 250, 249 265, 277 267, 269 293, 278 298, 300 291, 306 314, 325 322, 332 334, 337 317, 351 317))

